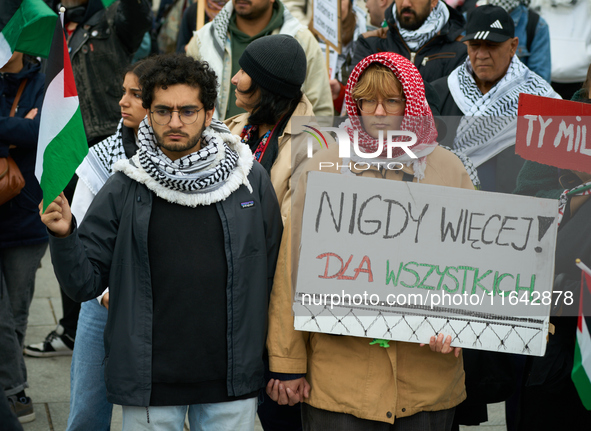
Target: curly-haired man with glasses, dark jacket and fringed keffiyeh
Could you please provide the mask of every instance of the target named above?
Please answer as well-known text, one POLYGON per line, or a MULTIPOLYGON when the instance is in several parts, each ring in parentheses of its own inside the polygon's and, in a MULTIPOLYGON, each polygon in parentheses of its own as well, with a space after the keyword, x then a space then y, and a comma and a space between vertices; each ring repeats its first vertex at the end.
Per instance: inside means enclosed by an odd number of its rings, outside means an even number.
POLYGON ((140 79, 139 150, 77 227, 61 195, 42 221, 73 299, 110 286, 107 398, 123 430, 253 430, 282 220, 248 146, 212 119, 217 78, 184 55, 140 79))

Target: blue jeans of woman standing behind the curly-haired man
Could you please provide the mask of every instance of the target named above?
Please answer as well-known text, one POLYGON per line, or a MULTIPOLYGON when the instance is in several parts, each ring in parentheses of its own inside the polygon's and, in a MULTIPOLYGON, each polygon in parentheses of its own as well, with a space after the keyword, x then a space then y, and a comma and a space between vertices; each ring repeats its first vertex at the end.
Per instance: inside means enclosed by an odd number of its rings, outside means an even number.
POLYGON ((105 386, 103 333, 108 311, 96 299, 80 307, 70 371, 70 416, 67 431, 108 431, 113 405, 105 386))

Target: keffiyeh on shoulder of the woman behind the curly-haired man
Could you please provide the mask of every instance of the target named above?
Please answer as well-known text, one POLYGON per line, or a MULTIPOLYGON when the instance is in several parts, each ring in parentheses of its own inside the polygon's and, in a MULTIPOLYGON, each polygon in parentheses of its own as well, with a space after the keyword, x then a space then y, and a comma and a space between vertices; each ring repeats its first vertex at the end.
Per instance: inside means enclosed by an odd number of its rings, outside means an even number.
POLYGON ((113 173, 115 162, 127 159, 123 148, 122 127, 123 120, 119 122, 115 134, 88 150, 88 154, 76 169, 78 177, 95 195, 113 173))

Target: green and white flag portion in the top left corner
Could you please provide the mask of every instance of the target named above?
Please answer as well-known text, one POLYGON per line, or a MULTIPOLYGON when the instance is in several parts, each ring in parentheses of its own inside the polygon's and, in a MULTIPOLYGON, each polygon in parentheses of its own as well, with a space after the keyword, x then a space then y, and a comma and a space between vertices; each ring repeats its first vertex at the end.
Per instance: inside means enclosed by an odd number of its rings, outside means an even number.
POLYGON ((43 0, 1 0, 0 67, 14 51, 47 58, 56 21, 43 0))

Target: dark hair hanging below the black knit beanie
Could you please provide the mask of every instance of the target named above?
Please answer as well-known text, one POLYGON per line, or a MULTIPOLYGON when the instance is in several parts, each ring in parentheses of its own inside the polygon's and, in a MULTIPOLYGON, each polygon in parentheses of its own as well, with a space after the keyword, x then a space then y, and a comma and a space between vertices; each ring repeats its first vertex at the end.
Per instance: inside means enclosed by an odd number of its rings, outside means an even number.
POLYGON ((248 117, 248 124, 253 126, 277 124, 284 114, 290 117, 303 96, 301 91, 294 98, 279 96, 264 89, 254 81, 252 81, 250 88, 245 91, 237 89, 242 94, 252 94, 257 90, 260 90, 261 98, 252 109, 252 114, 248 117))

